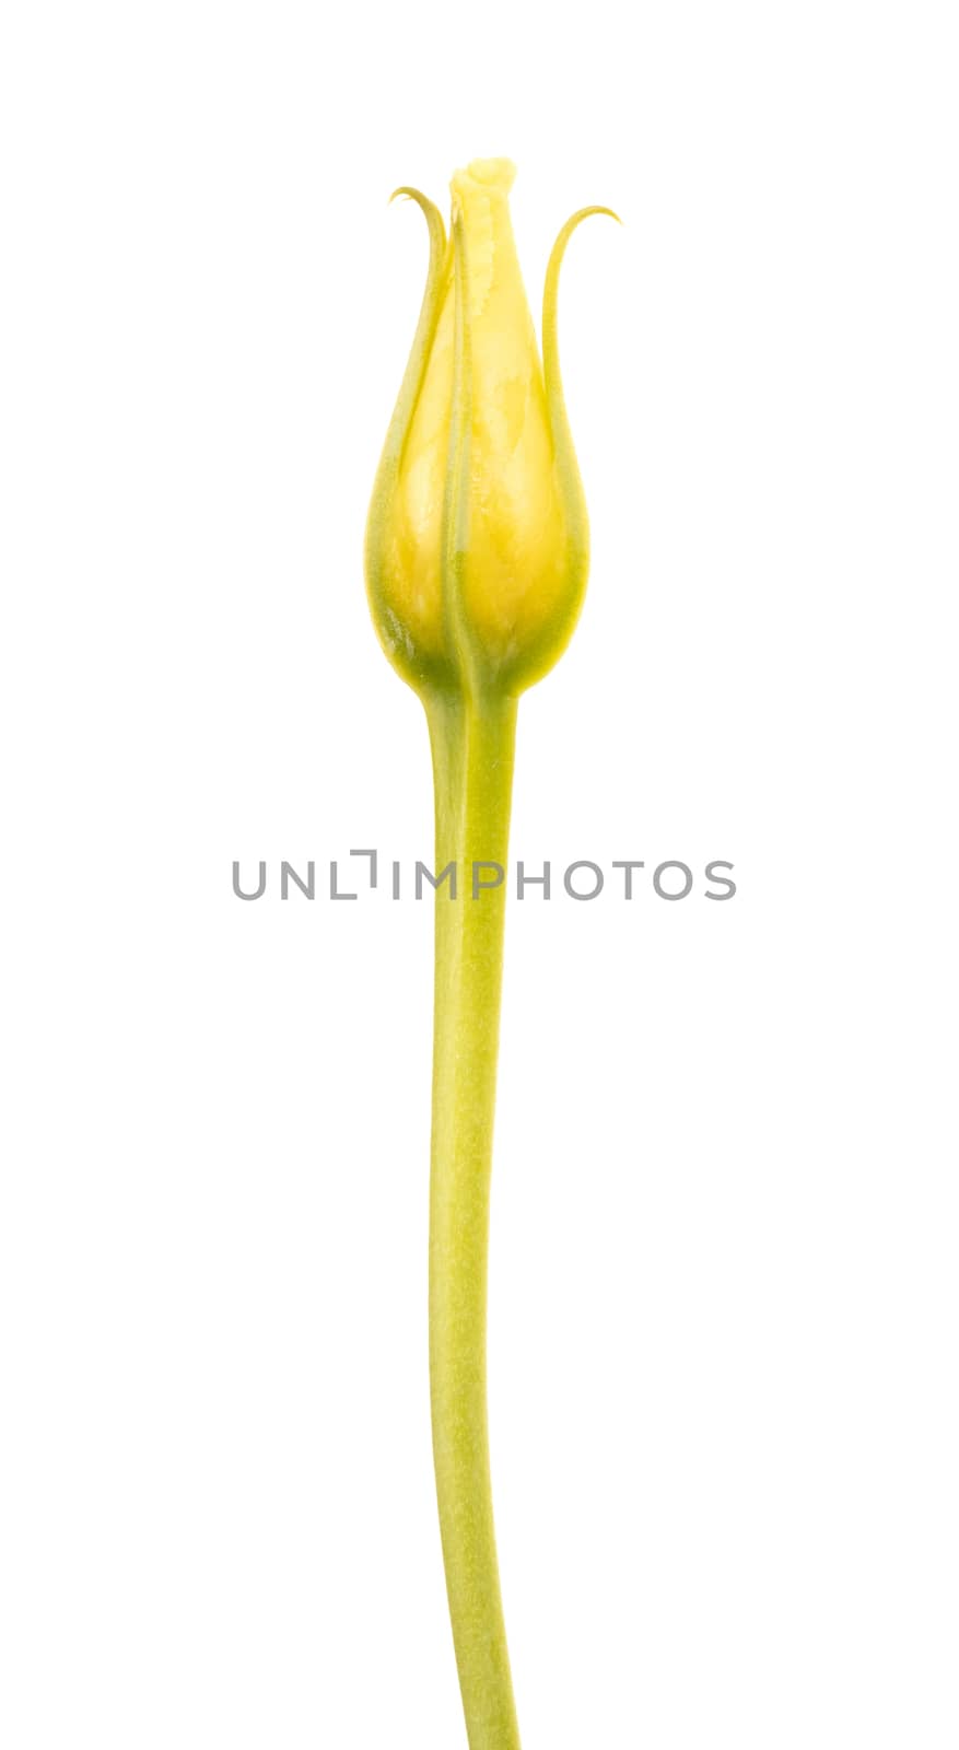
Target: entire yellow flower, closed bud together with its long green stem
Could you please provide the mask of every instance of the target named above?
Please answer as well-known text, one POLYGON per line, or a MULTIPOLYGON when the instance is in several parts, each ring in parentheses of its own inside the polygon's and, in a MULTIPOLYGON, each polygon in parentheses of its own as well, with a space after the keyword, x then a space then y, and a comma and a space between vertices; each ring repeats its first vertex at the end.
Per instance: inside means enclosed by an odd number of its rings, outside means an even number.
MULTIPOLYGON (((513 228, 513 164, 453 177, 446 238, 422 206, 430 262, 420 324, 366 528, 380 640, 429 723, 436 870, 499 880, 436 891, 429 1349, 436 1498, 471 1750, 520 1750, 495 1554, 486 1433, 486 1246, 516 696, 556 662, 590 558, 556 355, 556 238, 542 362, 513 228), (453 903, 455 901, 455 903, 453 903)), ((612 215, 614 217, 614 215, 612 215)))

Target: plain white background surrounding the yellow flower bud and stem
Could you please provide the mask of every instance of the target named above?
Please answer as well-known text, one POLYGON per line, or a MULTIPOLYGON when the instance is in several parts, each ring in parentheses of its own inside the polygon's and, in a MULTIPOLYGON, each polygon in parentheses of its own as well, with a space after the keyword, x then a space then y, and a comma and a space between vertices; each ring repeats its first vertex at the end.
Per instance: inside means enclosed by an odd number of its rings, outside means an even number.
POLYGON ((276 870, 430 852, 360 569, 425 268, 387 196, 500 152, 534 308, 567 214, 625 219, 567 257, 593 572, 513 850, 696 870, 509 915, 523 1743, 959 1741, 954 24, 7 7, 9 1750, 464 1743, 429 905, 276 870))

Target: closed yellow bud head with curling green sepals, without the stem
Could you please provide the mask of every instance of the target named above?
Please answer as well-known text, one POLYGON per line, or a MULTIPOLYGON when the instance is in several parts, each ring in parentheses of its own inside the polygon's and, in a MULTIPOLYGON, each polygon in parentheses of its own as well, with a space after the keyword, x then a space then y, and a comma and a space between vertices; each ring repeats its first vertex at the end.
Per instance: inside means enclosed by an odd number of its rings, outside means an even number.
MULTIPOLYGON (((542 362, 523 290, 508 159, 452 180, 452 236, 415 189, 430 268, 366 536, 380 640, 416 688, 516 695, 562 654, 586 586, 590 536, 556 352, 553 248, 542 362)), ((614 217, 614 215, 612 215, 614 217)))

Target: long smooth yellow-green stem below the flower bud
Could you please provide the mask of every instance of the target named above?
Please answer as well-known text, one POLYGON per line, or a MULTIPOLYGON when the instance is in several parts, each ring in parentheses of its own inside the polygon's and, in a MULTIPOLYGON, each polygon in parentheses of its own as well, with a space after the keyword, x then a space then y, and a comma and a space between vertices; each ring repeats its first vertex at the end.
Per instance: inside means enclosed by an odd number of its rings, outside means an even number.
POLYGON ((429 1332, 432 1452, 469 1750, 520 1750, 486 1432, 486 1253, 516 702, 434 695, 436 892, 429 1332))

